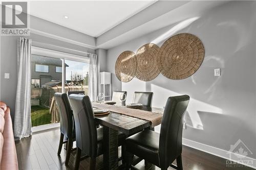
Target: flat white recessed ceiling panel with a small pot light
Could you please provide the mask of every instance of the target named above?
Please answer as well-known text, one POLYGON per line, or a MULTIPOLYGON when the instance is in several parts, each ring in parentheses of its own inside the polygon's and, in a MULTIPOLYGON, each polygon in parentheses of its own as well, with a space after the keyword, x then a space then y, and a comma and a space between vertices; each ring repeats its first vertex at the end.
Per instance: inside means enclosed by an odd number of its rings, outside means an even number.
POLYGON ((30 1, 30 14, 98 37, 156 1, 30 1), (66 19, 64 16, 68 16, 66 19))

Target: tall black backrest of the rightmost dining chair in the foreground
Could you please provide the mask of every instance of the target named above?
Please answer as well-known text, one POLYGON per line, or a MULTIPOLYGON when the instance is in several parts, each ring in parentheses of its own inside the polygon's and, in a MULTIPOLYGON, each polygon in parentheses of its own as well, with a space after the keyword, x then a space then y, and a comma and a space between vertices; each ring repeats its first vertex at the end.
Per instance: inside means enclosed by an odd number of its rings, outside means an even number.
POLYGON ((188 95, 169 97, 166 102, 159 139, 161 168, 167 169, 182 152, 183 116, 188 102, 188 95))

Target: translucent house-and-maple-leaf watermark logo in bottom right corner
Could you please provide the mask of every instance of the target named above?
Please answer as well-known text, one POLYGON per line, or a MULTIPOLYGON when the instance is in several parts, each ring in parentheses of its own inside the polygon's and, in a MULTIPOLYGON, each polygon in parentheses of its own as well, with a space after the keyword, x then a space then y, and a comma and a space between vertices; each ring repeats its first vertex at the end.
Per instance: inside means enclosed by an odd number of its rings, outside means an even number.
POLYGON ((253 165, 254 163, 248 157, 252 155, 252 152, 241 139, 238 139, 235 144, 230 145, 230 150, 227 154, 229 155, 229 160, 226 161, 227 167, 243 167, 245 165, 253 165))

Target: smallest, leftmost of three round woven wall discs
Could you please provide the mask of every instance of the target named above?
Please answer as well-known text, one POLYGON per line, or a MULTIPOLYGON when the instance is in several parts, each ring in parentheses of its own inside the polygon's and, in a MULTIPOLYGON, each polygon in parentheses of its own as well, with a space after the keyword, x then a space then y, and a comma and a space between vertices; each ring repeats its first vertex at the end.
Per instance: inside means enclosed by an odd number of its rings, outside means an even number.
POLYGON ((122 82, 130 82, 136 72, 136 58, 134 52, 125 51, 119 55, 115 65, 116 77, 122 82))

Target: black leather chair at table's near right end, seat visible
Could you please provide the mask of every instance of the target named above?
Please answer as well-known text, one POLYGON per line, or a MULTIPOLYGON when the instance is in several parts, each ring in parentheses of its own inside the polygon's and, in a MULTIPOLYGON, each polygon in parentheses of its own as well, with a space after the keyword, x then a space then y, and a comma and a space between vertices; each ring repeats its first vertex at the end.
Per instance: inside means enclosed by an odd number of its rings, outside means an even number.
POLYGON ((126 168, 132 165, 132 155, 166 170, 169 166, 182 169, 183 115, 189 102, 188 95, 169 97, 161 123, 160 134, 144 130, 125 139, 124 151, 126 168), (177 166, 173 161, 177 160, 177 166))

